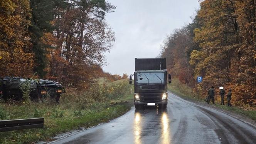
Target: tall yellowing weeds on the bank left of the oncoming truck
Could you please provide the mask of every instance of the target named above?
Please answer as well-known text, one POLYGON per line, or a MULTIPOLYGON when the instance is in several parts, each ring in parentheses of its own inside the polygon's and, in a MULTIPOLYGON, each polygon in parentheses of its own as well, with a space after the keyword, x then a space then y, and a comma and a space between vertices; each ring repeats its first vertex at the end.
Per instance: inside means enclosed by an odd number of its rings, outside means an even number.
POLYGON ((128 80, 125 79, 110 84, 92 84, 86 92, 67 89, 67 93, 61 95, 59 105, 66 109, 86 109, 95 102, 104 103, 121 99, 129 94, 130 87, 128 80))

